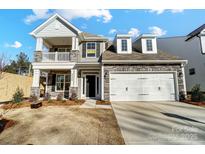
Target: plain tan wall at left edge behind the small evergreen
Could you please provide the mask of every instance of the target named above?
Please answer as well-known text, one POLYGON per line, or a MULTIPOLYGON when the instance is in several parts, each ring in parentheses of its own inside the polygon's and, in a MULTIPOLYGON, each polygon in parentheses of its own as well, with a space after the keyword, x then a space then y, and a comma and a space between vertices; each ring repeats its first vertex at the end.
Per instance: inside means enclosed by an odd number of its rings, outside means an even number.
POLYGON ((0 102, 11 101, 17 87, 21 88, 24 97, 30 97, 32 77, 3 72, 0 77, 0 102))

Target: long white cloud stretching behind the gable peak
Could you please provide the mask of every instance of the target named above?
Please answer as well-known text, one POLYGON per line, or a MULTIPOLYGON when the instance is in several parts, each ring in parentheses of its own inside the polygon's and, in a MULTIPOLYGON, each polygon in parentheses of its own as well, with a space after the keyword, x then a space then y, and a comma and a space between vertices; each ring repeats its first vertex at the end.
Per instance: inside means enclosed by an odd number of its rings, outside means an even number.
POLYGON ((32 10, 33 14, 26 16, 24 19, 24 22, 26 24, 31 24, 39 19, 47 19, 49 16, 55 13, 59 13, 67 20, 72 20, 76 18, 84 18, 84 19, 90 19, 91 17, 97 17, 97 21, 101 21, 103 23, 107 23, 112 19, 112 15, 109 10, 106 9, 57 9, 57 10, 46 10, 46 9, 36 9, 32 10))

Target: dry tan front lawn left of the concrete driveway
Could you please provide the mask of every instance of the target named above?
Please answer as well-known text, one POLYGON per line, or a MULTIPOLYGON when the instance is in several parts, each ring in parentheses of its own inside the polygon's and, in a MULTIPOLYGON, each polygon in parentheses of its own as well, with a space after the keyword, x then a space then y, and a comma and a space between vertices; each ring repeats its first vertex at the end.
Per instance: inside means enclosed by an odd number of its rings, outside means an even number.
POLYGON ((23 107, 6 118, 16 124, 0 134, 0 144, 124 144, 111 109, 23 107))

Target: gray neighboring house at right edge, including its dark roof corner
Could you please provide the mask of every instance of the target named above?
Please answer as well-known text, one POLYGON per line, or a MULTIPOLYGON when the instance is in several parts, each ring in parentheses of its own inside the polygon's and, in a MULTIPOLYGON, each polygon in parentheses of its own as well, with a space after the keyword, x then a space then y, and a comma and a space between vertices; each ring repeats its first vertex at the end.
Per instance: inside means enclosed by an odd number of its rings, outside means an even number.
POLYGON ((158 47, 188 60, 185 66, 188 92, 196 84, 205 92, 205 24, 187 36, 159 38, 158 47))

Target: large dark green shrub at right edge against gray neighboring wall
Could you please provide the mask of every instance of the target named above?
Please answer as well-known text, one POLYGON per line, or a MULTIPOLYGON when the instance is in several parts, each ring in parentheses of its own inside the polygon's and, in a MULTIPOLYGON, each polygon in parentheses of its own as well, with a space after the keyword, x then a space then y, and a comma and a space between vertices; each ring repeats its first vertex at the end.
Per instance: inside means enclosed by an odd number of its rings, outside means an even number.
POLYGON ((191 101, 200 102, 204 100, 203 93, 200 90, 200 85, 196 84, 191 90, 191 101))

